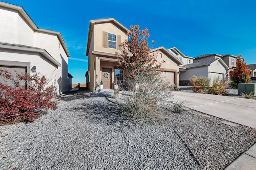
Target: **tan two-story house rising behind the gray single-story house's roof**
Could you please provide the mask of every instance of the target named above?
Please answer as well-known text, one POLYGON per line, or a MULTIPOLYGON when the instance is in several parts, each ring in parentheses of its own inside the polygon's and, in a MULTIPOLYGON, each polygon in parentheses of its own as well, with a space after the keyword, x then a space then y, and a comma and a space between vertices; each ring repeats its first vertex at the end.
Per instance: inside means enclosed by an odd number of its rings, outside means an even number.
POLYGON ((225 54, 225 55, 218 55, 218 54, 204 54, 196 57, 194 59, 194 63, 199 63, 202 61, 207 61, 211 59, 218 59, 221 58, 224 63, 228 66, 230 69, 236 68, 236 59, 237 56, 231 55, 231 54, 225 54))

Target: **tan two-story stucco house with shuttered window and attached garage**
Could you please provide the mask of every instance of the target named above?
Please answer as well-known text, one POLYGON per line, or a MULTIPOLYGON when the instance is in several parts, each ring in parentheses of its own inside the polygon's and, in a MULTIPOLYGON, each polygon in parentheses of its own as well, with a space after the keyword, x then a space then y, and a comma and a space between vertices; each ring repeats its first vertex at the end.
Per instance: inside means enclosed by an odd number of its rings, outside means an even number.
MULTIPOLYGON (((119 45, 128 39, 126 32, 130 31, 114 18, 91 20, 88 33, 86 55, 88 56, 87 87, 89 90, 99 90, 100 82, 103 89, 112 89, 115 80, 124 84, 123 74, 127 70, 117 68, 118 58, 116 52, 120 53, 119 45)), ((164 47, 153 49, 159 50, 157 59, 166 61, 163 68, 166 72, 166 80, 178 85, 178 67, 183 64, 164 47)))

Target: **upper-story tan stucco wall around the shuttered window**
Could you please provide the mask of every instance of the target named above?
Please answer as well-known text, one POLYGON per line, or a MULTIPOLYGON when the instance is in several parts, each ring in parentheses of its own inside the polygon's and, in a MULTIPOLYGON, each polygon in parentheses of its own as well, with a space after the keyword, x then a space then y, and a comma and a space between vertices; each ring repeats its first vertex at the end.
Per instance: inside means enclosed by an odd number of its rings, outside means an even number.
MULTIPOLYGON (((126 32, 122 31, 119 27, 117 27, 114 23, 101 23, 94 25, 94 39, 91 42, 94 44, 93 51, 104 52, 104 53, 116 53, 118 50, 111 48, 104 48, 102 46, 103 42, 103 31, 108 33, 113 33, 116 35, 121 35, 121 43, 127 39, 126 32)), ((120 52, 120 51, 118 51, 120 52)))

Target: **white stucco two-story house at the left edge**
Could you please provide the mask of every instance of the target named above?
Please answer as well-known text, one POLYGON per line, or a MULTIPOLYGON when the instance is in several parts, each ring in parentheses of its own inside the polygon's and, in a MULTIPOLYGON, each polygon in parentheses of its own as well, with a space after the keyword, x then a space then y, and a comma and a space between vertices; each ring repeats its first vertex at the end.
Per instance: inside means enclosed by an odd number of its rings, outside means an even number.
POLYGON ((38 28, 20 6, 0 2, 0 16, 0 68, 45 75, 57 94, 70 90, 70 55, 61 33, 38 28))

